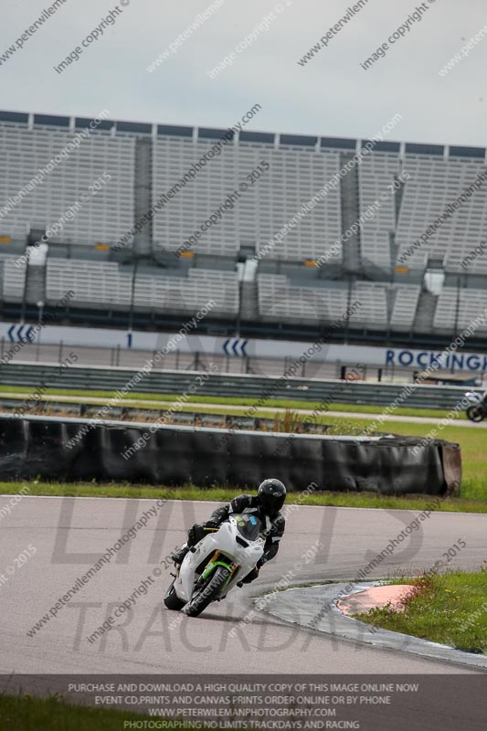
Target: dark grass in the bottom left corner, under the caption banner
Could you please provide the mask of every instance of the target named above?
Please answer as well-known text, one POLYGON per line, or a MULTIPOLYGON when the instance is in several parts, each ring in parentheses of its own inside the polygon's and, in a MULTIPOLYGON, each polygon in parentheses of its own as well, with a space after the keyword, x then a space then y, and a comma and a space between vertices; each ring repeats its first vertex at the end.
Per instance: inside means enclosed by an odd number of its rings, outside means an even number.
MULTIPOLYGON (((154 718, 115 709, 72 705, 57 695, 37 698, 29 694, 0 694, 0 731, 121 731, 124 721, 149 720, 154 721, 154 718)), ((167 720, 164 724, 165 729, 181 728, 181 721, 167 720)))

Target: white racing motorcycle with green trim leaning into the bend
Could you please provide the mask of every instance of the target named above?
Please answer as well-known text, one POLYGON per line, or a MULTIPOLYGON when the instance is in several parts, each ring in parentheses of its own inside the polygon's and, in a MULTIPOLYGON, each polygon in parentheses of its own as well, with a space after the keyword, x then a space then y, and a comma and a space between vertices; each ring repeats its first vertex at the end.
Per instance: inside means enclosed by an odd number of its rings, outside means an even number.
POLYGON ((190 548, 167 589, 167 609, 184 609, 197 617, 212 601, 221 601, 241 586, 264 553, 265 537, 259 518, 232 514, 214 533, 190 548))

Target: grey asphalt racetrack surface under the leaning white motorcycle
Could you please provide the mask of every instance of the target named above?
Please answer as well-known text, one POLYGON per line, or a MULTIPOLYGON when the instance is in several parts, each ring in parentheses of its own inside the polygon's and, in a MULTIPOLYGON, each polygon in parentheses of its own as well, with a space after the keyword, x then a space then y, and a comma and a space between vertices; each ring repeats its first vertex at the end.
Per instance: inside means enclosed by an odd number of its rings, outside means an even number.
MULTIPOLYGON (((10 500, 0 496, 0 508, 10 500)), ((215 503, 167 501, 56 617, 27 636, 77 577, 154 504, 26 496, 12 507, 0 521, 0 673, 473 672, 461 664, 337 639, 266 613, 248 625, 238 624, 253 608, 251 597, 270 590, 290 572, 296 584, 355 578, 414 520, 417 514, 410 511, 291 507, 279 556, 261 577, 190 619, 162 609, 172 569, 160 562, 184 541, 185 527, 206 518, 215 503), (318 558, 306 563, 304 556, 317 541, 318 558), (36 549, 35 555, 12 573, 16 556, 28 546, 36 549), (90 643, 87 637, 143 579, 145 596, 101 640, 90 643), (233 628, 238 631, 232 637, 233 628)), ((460 538, 467 546, 451 566, 475 569, 482 564, 487 515, 433 513, 419 525, 369 578, 431 567, 460 538)))

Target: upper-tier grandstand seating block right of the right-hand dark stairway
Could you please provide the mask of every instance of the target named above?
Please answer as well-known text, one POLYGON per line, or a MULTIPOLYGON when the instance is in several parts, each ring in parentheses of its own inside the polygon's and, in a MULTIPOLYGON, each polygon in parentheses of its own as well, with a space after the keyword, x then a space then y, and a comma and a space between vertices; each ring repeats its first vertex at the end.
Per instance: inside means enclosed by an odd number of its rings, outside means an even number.
MULTIPOLYGON (((391 237, 395 236, 397 257, 431 226, 484 168, 482 159, 445 160, 438 155, 373 153, 359 167, 360 213, 386 192, 403 170, 410 175, 398 208, 394 196, 388 196, 376 215, 365 220, 361 232, 361 251, 366 260, 386 270, 395 264, 391 259, 391 237)), ((461 261, 481 240, 487 224, 487 190, 475 191, 461 209, 445 221, 427 243, 407 254, 405 264, 424 269, 428 258, 442 260, 447 271, 464 271, 461 261)), ((487 258, 469 264, 471 272, 487 273, 487 258)))

